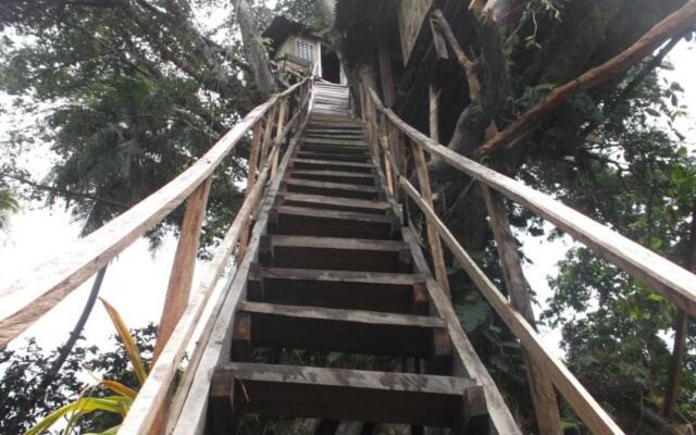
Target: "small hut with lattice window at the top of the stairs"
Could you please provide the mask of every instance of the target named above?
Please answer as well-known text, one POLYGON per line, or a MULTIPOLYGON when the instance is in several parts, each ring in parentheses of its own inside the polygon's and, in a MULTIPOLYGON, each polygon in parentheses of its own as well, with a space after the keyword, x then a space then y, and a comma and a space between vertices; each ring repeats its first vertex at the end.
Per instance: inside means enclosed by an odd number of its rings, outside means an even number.
POLYGON ((316 76, 327 82, 346 84, 336 52, 311 28, 276 16, 262 36, 270 39, 273 60, 283 73, 298 78, 315 70, 316 76))

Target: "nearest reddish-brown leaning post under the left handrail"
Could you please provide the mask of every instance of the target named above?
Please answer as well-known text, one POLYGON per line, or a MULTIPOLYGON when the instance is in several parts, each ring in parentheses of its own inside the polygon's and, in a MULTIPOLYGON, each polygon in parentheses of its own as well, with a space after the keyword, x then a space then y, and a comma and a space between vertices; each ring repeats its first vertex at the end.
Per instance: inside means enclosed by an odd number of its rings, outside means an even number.
POLYGON ((152 363, 157 361, 164 345, 169 340, 179 318, 188 304, 188 297, 194 282, 196 254, 200 243, 200 229, 206 216, 206 204, 212 175, 194 190, 186 202, 186 212, 182 222, 182 233, 176 246, 170 283, 164 297, 164 308, 160 318, 160 327, 154 346, 152 363))

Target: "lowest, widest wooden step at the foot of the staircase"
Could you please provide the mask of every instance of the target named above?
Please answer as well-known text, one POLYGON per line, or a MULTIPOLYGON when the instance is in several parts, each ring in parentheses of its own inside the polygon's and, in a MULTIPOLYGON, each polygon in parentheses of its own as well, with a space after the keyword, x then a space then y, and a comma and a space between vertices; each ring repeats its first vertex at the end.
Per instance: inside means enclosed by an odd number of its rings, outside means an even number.
POLYGON ((483 388, 463 377, 297 365, 226 363, 210 393, 214 434, 235 434, 243 413, 403 423, 487 434, 483 388))

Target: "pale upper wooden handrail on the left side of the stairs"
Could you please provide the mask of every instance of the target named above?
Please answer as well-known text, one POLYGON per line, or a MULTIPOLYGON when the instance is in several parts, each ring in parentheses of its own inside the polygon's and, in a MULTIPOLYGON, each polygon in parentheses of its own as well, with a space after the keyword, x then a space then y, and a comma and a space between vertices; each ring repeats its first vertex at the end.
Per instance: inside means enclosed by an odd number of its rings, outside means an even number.
POLYGON ((294 94, 307 82, 304 79, 254 108, 203 157, 164 187, 79 239, 60 257, 41 263, 0 290, 0 347, 7 346, 184 202, 279 98, 294 94))

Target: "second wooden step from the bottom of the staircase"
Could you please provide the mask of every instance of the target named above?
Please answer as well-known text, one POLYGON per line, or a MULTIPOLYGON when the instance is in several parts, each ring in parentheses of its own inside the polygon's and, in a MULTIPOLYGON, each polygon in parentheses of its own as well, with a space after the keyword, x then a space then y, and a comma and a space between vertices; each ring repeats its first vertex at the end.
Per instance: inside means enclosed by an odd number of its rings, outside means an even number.
MULTIPOLYGON (((239 302, 232 355, 249 360, 252 348, 306 349, 431 359, 447 336, 444 320, 378 311, 239 302)), ((451 349, 436 358, 451 364, 451 349)))

